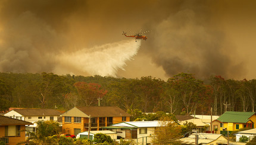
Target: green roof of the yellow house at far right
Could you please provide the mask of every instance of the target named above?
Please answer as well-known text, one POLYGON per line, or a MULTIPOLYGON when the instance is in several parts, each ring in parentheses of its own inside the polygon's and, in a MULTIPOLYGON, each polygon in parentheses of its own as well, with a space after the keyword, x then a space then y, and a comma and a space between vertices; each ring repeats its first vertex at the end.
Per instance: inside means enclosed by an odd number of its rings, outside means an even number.
POLYGON ((217 120, 222 123, 247 123, 254 114, 255 112, 226 111, 217 120))

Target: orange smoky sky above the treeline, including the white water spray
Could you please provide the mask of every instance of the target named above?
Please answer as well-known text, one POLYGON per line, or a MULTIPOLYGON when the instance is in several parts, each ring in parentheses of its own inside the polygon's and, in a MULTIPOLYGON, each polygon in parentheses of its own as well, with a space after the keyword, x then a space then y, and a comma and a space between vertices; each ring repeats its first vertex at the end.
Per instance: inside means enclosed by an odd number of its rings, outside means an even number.
POLYGON ((0 71, 254 79, 256 1, 2 0, 0 71), (148 40, 126 38, 150 31, 148 40))

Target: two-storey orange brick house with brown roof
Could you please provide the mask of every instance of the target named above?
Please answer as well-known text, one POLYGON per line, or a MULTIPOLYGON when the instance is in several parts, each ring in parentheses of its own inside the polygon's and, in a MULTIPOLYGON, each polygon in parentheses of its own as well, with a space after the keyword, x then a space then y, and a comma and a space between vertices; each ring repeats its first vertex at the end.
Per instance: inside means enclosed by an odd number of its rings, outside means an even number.
POLYGON ((130 121, 130 114, 118 107, 74 107, 61 114, 63 133, 74 134, 89 130, 101 130, 111 124, 130 121))

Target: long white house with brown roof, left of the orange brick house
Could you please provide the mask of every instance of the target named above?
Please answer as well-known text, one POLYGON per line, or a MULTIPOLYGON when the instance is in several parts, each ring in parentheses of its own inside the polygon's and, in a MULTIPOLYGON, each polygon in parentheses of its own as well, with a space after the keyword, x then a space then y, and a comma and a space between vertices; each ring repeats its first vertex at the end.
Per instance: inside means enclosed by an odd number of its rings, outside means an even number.
POLYGON ((58 117, 60 117, 61 112, 56 109, 13 109, 4 115, 6 117, 29 121, 32 123, 39 120, 58 121, 58 117))

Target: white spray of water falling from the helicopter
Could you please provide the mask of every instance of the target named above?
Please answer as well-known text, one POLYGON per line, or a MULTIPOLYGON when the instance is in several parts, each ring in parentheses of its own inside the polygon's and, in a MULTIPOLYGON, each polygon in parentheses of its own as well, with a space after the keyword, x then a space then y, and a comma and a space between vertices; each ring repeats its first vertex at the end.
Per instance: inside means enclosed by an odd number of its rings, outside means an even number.
POLYGON ((62 53, 57 57, 61 66, 58 70, 71 73, 73 69, 88 73, 89 75, 116 76, 118 69, 123 69, 127 60, 132 60, 138 53, 141 40, 118 41, 92 48, 85 48, 73 53, 62 53), (61 67, 61 68, 60 68, 61 67))

